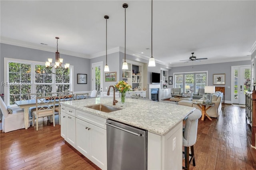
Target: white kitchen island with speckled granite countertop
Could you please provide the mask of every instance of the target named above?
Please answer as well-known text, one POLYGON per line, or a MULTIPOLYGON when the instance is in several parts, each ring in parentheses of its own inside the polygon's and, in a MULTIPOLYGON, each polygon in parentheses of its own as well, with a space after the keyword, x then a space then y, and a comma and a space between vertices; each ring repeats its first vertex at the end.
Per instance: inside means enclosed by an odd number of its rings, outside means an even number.
POLYGON ((182 169, 182 121, 195 108, 130 98, 123 106, 120 99, 117 100, 116 106, 112 106, 112 97, 61 102, 62 137, 97 166, 106 169, 105 123, 106 119, 112 119, 148 130, 149 170, 182 169), (105 113, 86 107, 100 103, 120 110, 105 113), (84 135, 83 126, 90 134, 84 135), (84 143, 88 144, 82 146, 84 143))

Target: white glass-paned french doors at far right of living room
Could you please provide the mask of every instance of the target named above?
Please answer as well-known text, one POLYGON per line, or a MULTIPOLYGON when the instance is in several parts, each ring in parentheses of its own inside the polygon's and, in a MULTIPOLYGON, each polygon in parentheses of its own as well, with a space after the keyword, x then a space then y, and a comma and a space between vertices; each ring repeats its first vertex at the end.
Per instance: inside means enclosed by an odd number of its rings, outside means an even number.
MULTIPOLYGON (((245 92, 249 90, 248 82, 251 81, 251 66, 240 65, 232 66, 232 88, 231 88, 231 103, 240 105, 245 104, 245 92)), ((250 87, 252 90, 252 87, 250 87)))

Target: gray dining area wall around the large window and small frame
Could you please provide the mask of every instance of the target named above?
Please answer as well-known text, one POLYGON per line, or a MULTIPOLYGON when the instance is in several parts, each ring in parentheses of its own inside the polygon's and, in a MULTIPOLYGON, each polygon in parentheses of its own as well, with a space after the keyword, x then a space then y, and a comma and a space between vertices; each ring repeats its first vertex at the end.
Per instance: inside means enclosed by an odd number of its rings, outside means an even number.
MULTIPOLYGON (((81 57, 74 57, 71 55, 65 55, 60 52, 60 57, 64 59, 64 63, 70 63, 74 65, 74 91, 90 91, 90 59, 81 57), (77 74, 87 74, 87 84, 77 84, 77 74)), ((0 43, 0 81, 4 81, 4 57, 25 59, 31 61, 47 61, 48 58, 54 60, 55 53, 42 51, 38 49, 31 49, 26 47, 20 47, 16 45, 8 45, 0 43)), ((1 86, 0 93, 4 93, 4 88, 1 86)))

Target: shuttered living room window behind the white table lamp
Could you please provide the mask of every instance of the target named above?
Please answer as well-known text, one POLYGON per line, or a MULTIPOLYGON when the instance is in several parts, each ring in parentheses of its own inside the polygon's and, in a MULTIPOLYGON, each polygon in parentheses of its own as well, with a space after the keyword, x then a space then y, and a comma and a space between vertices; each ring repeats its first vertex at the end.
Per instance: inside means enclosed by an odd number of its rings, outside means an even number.
POLYGON ((181 88, 182 93, 196 93, 207 85, 208 71, 174 73, 174 87, 181 88))

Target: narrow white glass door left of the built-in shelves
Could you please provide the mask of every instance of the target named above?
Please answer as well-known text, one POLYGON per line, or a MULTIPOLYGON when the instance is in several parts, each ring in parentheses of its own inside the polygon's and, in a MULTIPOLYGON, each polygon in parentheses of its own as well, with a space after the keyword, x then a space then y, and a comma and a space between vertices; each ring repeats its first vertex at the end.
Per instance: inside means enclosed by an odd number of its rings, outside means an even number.
POLYGON ((97 90, 98 95, 103 97, 103 62, 92 63, 92 90, 97 90))

